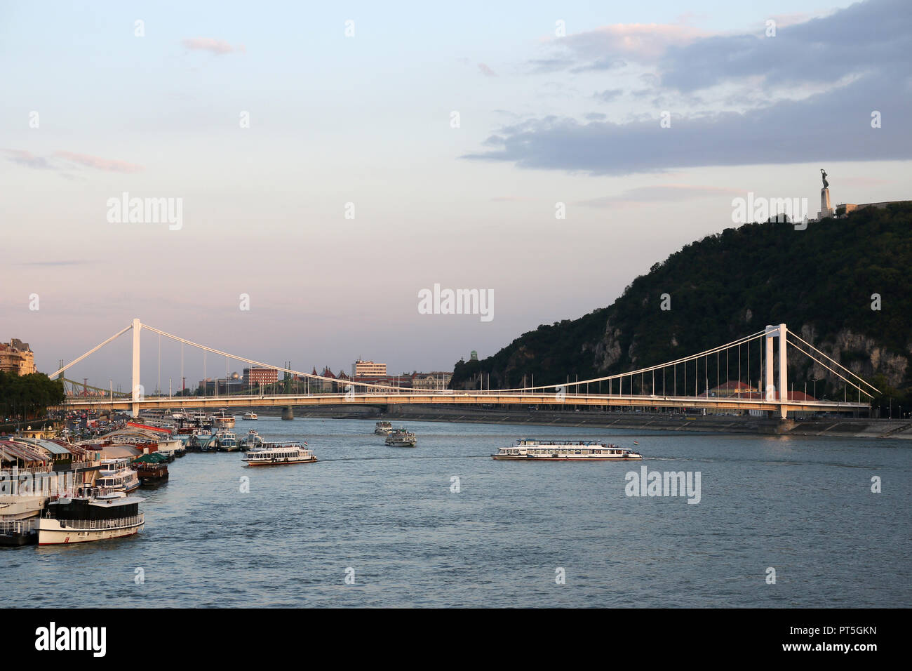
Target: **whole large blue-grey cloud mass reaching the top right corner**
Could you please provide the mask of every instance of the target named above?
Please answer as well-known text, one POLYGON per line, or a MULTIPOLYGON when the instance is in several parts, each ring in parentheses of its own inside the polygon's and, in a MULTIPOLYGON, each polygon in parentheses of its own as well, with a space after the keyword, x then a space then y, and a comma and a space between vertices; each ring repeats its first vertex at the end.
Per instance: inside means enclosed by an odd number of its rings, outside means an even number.
POLYGON ((910 36, 912 13, 902 2, 868 0, 765 40, 702 37, 659 58, 653 92, 661 107, 652 114, 625 123, 534 117, 503 126, 464 158, 592 174, 912 159, 910 36), (726 111, 707 110, 690 93, 722 82, 761 92, 793 82, 797 97, 745 96, 740 111, 726 111), (694 105, 702 109, 683 111, 694 105), (658 110, 670 111, 670 128, 660 126, 658 110), (871 127, 874 110, 881 128, 871 127))

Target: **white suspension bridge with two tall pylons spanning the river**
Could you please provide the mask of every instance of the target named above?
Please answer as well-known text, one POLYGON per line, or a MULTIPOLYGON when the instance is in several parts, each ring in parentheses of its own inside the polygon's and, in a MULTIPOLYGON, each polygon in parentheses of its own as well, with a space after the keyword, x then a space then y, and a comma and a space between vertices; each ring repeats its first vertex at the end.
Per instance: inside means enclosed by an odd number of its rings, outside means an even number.
MULTIPOLYGON (((639 408, 695 408, 715 412, 766 411, 770 416, 786 417, 789 412, 845 412, 868 411, 869 399, 876 388, 861 377, 845 368, 839 362, 804 341, 788 330, 785 324, 767 326, 764 330, 727 342, 719 347, 691 354, 675 361, 660 363, 636 371, 606 375, 587 380, 567 380, 565 383, 539 386, 522 386, 510 389, 477 390, 416 390, 411 387, 358 382, 330 378, 314 373, 295 371, 283 366, 254 361, 242 356, 216 350, 198 342, 188 341, 135 319, 123 330, 108 340, 85 352, 77 359, 51 373, 51 378, 63 378, 63 373, 82 362, 111 341, 117 340, 127 331, 132 331, 132 390, 128 394, 115 394, 113 387, 108 394, 67 400, 70 409, 94 408, 127 410, 136 416, 142 409, 169 409, 181 406, 194 408, 251 408, 261 406, 286 407, 294 405, 340 405, 340 404, 523 404, 523 405, 568 405, 568 406, 632 406, 639 408), (140 334, 143 330, 157 333, 181 343, 181 378, 183 377, 183 350, 192 347, 202 350, 204 361, 207 354, 225 359, 225 394, 187 396, 163 393, 147 394, 140 381, 140 334), (751 352, 751 343, 753 351, 751 352), (800 352, 808 363, 820 366, 844 383, 843 400, 818 400, 814 396, 789 391, 788 356, 800 352), (228 368, 230 362, 245 362, 258 368, 272 369, 295 376, 306 382, 305 393, 227 393, 228 368), (754 367, 751 367, 751 362, 754 367), (759 366, 757 363, 759 362, 759 366), (756 373, 756 377, 752 377, 756 373), (736 377, 734 377, 736 376, 736 377), (711 379, 716 386, 710 387, 711 379), (732 386, 731 381, 737 380, 732 386), (756 381, 756 388, 753 383, 756 381), (313 383, 311 390, 310 383, 313 383), (338 387, 344 386, 343 389, 338 387), (333 389, 326 393, 325 389, 333 389), (606 390, 605 390, 606 388, 606 390), (856 400, 850 400, 848 390, 852 389, 856 400), (592 393, 590 390, 595 389, 592 393), (702 389, 702 392, 700 392, 702 389), (637 393, 638 392, 638 393, 637 393)), ((161 341, 159 347, 161 371, 161 341)), ((204 363, 205 366, 205 363, 204 363)), ((205 371, 205 368, 204 368, 205 371)), ((203 373, 205 374, 205 372, 203 373)), ((823 373, 822 373, 823 374, 823 373)), ((161 376, 161 372, 160 372, 161 376)), ((88 384, 73 383, 85 387, 88 384)))

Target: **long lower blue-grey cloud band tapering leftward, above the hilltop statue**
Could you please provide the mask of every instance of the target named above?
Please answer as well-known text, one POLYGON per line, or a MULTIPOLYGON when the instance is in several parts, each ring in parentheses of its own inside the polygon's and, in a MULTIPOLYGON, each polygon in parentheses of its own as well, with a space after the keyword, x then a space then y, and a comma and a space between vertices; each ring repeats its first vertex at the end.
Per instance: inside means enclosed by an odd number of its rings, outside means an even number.
POLYGON ((489 151, 465 158, 594 174, 700 165, 905 160, 912 158, 912 133, 904 116, 910 108, 912 88, 896 87, 892 78, 867 78, 807 100, 784 100, 745 113, 672 114, 670 128, 660 127, 658 115, 623 124, 533 119, 503 128, 484 142, 489 151), (872 104, 893 122, 871 128, 872 104))

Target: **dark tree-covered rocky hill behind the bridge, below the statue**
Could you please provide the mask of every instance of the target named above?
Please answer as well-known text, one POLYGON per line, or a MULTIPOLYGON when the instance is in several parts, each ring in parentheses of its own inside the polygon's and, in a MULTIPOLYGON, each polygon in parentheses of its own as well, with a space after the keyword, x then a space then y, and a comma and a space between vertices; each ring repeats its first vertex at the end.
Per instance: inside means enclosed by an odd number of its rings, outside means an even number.
MULTIPOLYGON (((490 374, 492 388, 507 388, 522 385, 523 375, 540 385, 626 372, 784 322, 895 405, 908 399, 912 411, 909 267, 912 204, 865 208, 805 230, 772 222, 728 228, 655 264, 607 308, 539 326, 487 359, 457 363, 452 386, 477 387, 482 374, 485 383, 490 374)), ((752 365, 759 372, 759 360, 752 365)), ((816 378, 819 398, 843 395, 838 378, 791 353, 789 377, 795 390, 816 378)), ((710 379, 715 386, 711 365, 710 379)))

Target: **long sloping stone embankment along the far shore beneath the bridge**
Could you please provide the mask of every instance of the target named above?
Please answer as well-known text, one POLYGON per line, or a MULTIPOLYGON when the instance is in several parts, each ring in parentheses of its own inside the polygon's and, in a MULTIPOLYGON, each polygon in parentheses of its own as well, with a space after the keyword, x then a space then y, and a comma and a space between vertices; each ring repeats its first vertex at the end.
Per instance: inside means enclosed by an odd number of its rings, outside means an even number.
MULTIPOLYGON (((279 411, 262 415, 278 416, 279 411)), ((529 426, 591 426, 593 428, 688 431, 752 435, 825 435, 844 438, 895 438, 912 440, 912 421, 833 417, 813 420, 780 420, 750 415, 700 415, 658 413, 551 413, 525 409, 485 409, 434 405, 391 405, 388 412, 366 406, 298 406, 295 417, 379 419, 391 422, 464 422, 469 424, 529 426)))

